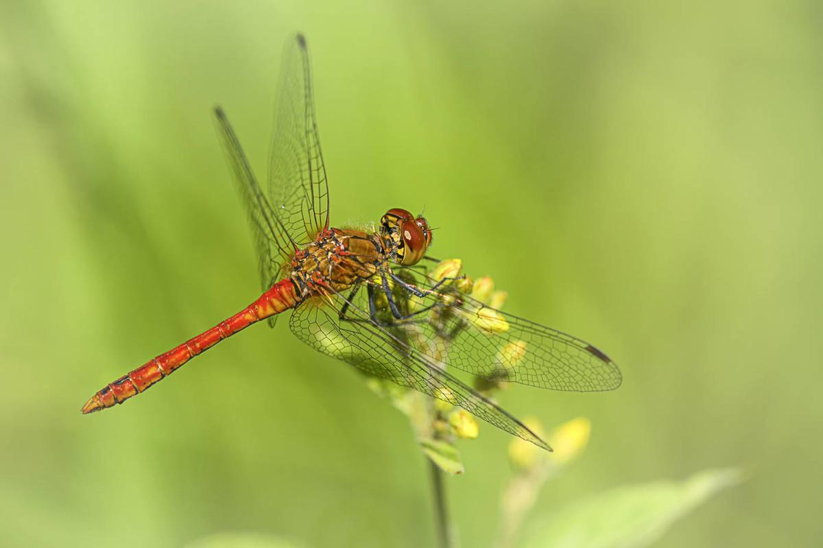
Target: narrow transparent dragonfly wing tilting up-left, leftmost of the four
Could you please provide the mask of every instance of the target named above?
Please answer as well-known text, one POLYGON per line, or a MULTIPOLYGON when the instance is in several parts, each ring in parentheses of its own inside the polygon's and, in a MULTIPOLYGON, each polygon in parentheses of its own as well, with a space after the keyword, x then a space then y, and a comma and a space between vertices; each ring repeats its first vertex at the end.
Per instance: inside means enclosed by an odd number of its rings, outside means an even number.
POLYGON ((260 285, 263 290, 267 290, 281 278, 283 258, 294 253, 295 244, 254 178, 249 161, 246 160, 226 114, 217 107, 214 117, 226 159, 249 216, 254 248, 258 253, 260 285))

